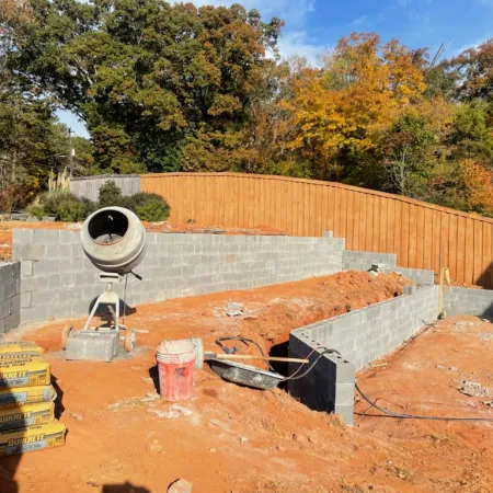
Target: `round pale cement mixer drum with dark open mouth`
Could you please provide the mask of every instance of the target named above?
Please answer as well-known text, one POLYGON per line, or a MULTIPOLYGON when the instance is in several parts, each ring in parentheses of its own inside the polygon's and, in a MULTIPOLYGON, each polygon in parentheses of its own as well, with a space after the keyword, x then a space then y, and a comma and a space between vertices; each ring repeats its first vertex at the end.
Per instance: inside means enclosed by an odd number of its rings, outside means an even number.
POLYGON ((104 207, 85 219, 81 242, 95 267, 125 275, 144 259, 146 230, 131 210, 104 207))

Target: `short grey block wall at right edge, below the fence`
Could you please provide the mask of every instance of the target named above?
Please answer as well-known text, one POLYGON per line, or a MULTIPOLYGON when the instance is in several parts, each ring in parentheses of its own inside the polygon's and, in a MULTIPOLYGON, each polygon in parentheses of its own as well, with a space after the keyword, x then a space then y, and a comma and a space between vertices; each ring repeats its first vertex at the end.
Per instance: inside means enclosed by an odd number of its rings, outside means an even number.
POLYGON ((493 290, 446 286, 444 310, 447 317, 472 314, 493 318, 493 290))

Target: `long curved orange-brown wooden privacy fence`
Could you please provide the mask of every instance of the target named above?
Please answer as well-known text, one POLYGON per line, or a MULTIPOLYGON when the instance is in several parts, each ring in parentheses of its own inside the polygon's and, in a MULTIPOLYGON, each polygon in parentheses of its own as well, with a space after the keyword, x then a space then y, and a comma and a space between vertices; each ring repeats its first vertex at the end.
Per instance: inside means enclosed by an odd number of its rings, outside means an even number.
POLYGON ((395 253, 398 265, 493 287, 493 220, 406 197, 340 183, 238 173, 140 176, 162 195, 172 219, 208 226, 270 226, 289 234, 332 230, 346 249, 395 253))

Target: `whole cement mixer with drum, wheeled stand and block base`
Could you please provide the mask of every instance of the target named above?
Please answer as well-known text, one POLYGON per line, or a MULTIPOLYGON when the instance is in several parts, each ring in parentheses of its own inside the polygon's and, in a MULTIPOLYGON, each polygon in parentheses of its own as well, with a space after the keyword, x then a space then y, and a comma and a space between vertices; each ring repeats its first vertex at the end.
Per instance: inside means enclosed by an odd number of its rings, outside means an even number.
POLYGON ((102 271, 99 277, 101 283, 106 284, 106 290, 95 300, 82 330, 74 331, 73 325, 65 325, 61 345, 67 359, 111 362, 118 351, 121 339, 128 353, 136 345, 135 331, 119 323, 121 300, 113 285, 129 274, 141 279, 134 268, 145 255, 146 230, 133 211, 123 207, 104 207, 85 219, 80 238, 85 255, 102 271), (92 319, 103 305, 107 306, 111 314, 110 326, 91 328, 92 319), (121 331, 125 331, 125 337, 121 337, 121 331))

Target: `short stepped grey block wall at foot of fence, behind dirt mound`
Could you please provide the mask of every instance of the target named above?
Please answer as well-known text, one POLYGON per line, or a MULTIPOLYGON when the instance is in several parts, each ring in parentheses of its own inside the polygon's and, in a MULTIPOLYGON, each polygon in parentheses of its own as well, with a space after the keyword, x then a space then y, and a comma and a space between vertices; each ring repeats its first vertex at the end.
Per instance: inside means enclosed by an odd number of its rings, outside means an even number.
POLYGON ((343 253, 343 271, 369 271, 371 265, 381 265, 382 272, 398 272, 419 286, 435 284, 435 273, 422 268, 397 267, 397 255, 393 253, 357 252, 345 250, 343 253))

